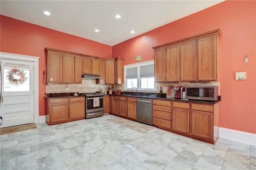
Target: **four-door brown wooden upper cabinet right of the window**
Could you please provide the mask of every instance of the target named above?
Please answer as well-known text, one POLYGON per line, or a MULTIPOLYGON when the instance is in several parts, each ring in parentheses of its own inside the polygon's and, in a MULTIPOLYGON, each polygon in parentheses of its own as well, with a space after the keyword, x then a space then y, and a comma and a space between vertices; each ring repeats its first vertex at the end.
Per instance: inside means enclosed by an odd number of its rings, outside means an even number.
POLYGON ((218 81, 220 29, 153 47, 156 82, 218 81))

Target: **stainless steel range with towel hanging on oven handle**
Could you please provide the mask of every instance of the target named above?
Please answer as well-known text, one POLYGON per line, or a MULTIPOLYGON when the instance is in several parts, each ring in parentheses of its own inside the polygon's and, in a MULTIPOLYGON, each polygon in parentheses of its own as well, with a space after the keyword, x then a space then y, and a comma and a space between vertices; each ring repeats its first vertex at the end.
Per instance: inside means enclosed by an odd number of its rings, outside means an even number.
POLYGON ((85 119, 103 115, 103 97, 102 93, 79 93, 79 96, 85 96, 85 119), (94 98, 99 98, 99 107, 93 107, 94 98))

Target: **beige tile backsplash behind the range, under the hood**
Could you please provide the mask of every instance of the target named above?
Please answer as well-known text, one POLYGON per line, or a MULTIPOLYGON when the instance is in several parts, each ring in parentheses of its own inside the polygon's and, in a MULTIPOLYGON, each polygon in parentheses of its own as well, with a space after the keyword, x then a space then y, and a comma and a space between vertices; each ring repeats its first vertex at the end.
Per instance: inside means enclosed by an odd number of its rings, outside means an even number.
MULTIPOLYGON (((46 93, 91 93, 95 91, 108 91, 108 87, 111 85, 99 85, 96 84, 95 79, 82 79, 82 84, 58 84, 58 83, 49 83, 46 86, 46 93), (68 88, 68 89, 67 89, 68 88)), ((123 89, 123 85, 112 85, 114 90, 123 89)))

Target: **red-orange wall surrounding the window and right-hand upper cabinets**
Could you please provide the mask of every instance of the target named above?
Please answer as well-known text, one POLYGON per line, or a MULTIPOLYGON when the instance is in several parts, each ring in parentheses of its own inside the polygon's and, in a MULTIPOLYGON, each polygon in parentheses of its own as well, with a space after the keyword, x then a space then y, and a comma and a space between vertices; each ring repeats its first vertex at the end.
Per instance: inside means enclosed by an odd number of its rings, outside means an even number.
POLYGON ((112 47, 124 65, 154 59, 152 47, 220 28, 220 127, 256 133, 256 1, 225 1, 112 47), (244 63, 244 56, 249 58, 244 63), (235 72, 247 80, 236 81, 235 72))

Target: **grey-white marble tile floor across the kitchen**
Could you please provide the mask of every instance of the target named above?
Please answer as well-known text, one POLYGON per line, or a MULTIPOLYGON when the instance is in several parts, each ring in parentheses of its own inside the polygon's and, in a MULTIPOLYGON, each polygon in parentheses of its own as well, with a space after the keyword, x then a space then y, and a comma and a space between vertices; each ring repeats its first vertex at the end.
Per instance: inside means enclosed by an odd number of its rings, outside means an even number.
MULTIPOLYGON (((154 128, 141 133, 104 115, 0 136, 0 169, 256 170, 256 146, 215 145, 154 128)), ((139 123, 138 123, 139 124, 139 123)))

